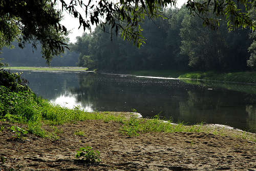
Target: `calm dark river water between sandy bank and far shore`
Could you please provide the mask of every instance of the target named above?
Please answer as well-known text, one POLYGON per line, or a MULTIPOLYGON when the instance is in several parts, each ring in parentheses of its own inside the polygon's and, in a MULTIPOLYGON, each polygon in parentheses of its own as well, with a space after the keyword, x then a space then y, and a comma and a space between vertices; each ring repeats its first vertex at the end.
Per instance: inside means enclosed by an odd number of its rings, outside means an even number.
POLYGON ((38 95, 87 111, 131 111, 187 124, 223 124, 256 132, 256 85, 183 82, 90 72, 24 71, 38 95), (233 90, 228 90, 233 89, 233 90))

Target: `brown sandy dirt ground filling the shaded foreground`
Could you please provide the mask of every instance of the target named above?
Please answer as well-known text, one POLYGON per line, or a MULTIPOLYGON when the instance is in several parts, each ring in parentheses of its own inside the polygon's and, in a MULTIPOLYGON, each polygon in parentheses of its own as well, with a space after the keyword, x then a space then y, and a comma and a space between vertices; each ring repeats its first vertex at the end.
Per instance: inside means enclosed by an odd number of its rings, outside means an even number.
MULTIPOLYGON (((0 132, 0 170, 256 170, 256 144, 206 133, 145 133, 127 138, 119 123, 88 120, 58 128, 58 140, 0 132), (85 136, 74 135, 83 131, 85 136), (76 151, 90 145, 101 162, 83 164, 76 151)), ((22 125, 18 125, 22 126, 22 125)))

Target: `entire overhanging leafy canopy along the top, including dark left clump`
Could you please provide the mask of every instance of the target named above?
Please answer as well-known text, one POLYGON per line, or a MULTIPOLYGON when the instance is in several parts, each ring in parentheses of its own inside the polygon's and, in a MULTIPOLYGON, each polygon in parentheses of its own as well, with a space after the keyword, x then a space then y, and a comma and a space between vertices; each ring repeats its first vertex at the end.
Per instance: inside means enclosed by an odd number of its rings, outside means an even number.
MULTIPOLYGON (((67 29, 60 24, 61 11, 56 10, 56 5, 61 5, 62 10, 77 18, 84 30, 91 31, 94 24, 103 30, 106 25, 111 25, 111 32, 114 29, 117 34, 121 30, 123 39, 140 46, 144 40, 139 22, 144 16, 161 16, 161 9, 176 3, 177 0, 1 0, 0 47, 10 45, 14 38, 19 40, 20 47, 30 42, 36 48, 39 41, 47 62, 63 52, 63 47, 67 47, 67 29), (79 12, 79 8, 83 12, 79 12)), ((230 30, 249 27, 253 31, 255 28, 255 20, 248 14, 256 7, 254 0, 188 0, 186 7, 212 29, 219 27, 220 16, 226 16, 230 30), (209 17, 210 13, 214 17, 209 17)))

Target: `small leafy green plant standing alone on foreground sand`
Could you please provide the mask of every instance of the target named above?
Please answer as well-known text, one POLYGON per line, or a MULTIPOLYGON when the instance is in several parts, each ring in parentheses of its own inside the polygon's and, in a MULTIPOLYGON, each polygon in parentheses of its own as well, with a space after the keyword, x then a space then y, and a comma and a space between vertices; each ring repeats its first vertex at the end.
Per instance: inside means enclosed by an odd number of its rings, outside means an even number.
POLYGON ((76 159, 81 159, 86 163, 100 162, 99 151, 94 151, 91 146, 87 146, 86 148, 80 148, 76 152, 76 159))

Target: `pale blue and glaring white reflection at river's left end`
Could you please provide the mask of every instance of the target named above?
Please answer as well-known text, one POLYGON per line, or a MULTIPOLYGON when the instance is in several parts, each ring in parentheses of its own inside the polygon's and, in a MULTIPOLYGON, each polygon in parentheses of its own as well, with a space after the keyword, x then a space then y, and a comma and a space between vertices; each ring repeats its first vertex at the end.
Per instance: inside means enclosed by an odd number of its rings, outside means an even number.
POLYGON ((92 104, 80 103, 77 74, 74 72, 33 72, 25 71, 23 76, 29 80, 30 88, 40 96, 68 108, 81 106, 87 111, 92 111, 92 104))

